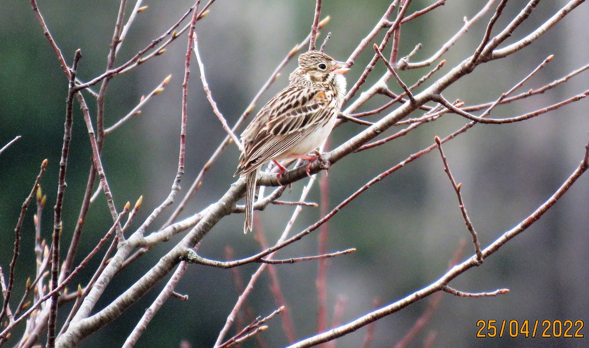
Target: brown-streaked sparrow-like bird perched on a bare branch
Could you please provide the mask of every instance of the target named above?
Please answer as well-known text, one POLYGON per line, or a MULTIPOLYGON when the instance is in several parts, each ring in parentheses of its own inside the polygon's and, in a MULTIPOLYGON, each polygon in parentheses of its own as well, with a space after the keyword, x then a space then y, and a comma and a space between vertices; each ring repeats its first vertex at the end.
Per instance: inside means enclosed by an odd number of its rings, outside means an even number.
POLYGON ((273 161, 280 180, 286 168, 279 161, 302 158, 309 161, 309 175, 311 162, 319 157, 316 149, 332 131, 342 108, 343 74, 349 71, 349 64, 319 51, 301 54, 298 63, 289 75, 289 85, 260 109, 240 137, 243 151, 233 176, 246 177, 243 233, 252 230, 254 193, 262 165, 273 161))

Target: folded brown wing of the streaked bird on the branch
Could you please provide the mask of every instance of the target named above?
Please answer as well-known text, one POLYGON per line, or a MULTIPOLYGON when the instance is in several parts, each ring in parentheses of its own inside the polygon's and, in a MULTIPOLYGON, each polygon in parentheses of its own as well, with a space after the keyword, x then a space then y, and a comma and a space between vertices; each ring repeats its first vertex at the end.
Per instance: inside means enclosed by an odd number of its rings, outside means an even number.
POLYGON ((247 174, 288 150, 328 115, 335 95, 324 88, 291 85, 257 113, 241 134, 245 151, 236 174, 247 174))

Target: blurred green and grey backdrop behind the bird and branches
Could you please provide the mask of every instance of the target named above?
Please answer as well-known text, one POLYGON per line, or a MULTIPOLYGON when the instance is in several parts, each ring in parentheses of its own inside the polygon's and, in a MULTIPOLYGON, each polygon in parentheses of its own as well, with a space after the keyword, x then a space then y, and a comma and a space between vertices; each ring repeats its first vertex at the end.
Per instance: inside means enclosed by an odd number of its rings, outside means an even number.
MULTIPOLYGON (((408 13, 432 2, 414 0, 408 13)), ((565 3, 567 1, 563 0, 541 2, 531 18, 518 28, 508 42, 527 35, 565 3)), ((190 1, 144 1, 143 5, 149 8, 135 19, 118 54, 118 64, 133 57, 135 52, 170 28, 191 4, 190 1)), ((328 31, 332 32, 326 53, 337 60, 345 60, 360 39, 379 21, 389 4, 386 0, 323 1, 322 18, 329 15, 331 19, 317 39, 317 45, 323 42, 328 31)), ((39 1, 38 5, 53 37, 68 58, 68 64, 71 64, 75 49, 81 48, 78 77, 88 81, 101 74, 106 64, 118 2, 39 1)), ((128 5, 127 14, 133 5, 134 2, 128 5)), ((423 48, 413 61, 430 57, 461 28, 463 18, 472 18, 482 5, 481 1, 448 1, 445 6, 404 25, 399 56, 405 56, 421 42, 423 48)), ((511 21, 523 5, 521 1, 509 2, 495 28, 502 28, 511 21)), ((211 6, 210 14, 198 22, 199 49, 207 79, 230 125, 247 108, 287 52, 306 37, 314 8, 315 1, 312 0, 218 0, 211 6)), ((491 14, 492 11, 444 55, 446 65, 434 78, 441 77, 472 54, 491 14)), ((551 54, 555 55, 552 62, 527 82, 521 91, 541 87, 582 67, 588 63, 589 57, 585 25, 588 15, 589 7, 581 5, 529 47, 507 59, 477 68, 474 73, 452 85, 444 96, 448 100, 459 98, 466 105, 494 101, 551 54)), ((381 38, 382 34, 376 42, 380 42, 381 38)), ((16 135, 22 135, 21 140, 0 155, 0 266, 6 270, 12 257, 14 227, 22 201, 31 190, 44 158, 48 158, 49 165, 41 187, 43 193, 48 195, 48 204, 42 217, 42 234, 44 238, 51 236, 67 80, 28 2, 0 3, 0 42, 0 146, 16 135)), ((173 75, 166 90, 149 101, 140 115, 108 135, 104 146, 103 163, 118 209, 126 201, 133 203, 144 195, 143 207, 134 218, 135 228, 167 196, 176 174, 185 54, 186 38, 183 37, 173 42, 166 54, 114 78, 108 90, 107 127, 127 114, 140 101, 141 95, 152 91, 167 75, 173 75)), ((349 85, 356 81, 372 55, 370 48, 360 55, 347 75, 349 85)), ((263 95, 256 110, 287 84, 287 74, 294 67, 294 61, 290 62, 282 77, 263 95)), ((413 84, 429 69, 402 71, 400 74, 407 84, 413 84)), ((214 148, 225 137, 205 99, 196 59, 193 59, 191 70, 186 174, 182 180, 182 193, 190 187, 214 148)), ((384 65, 377 64, 366 86, 372 85, 384 72, 384 65)), ((587 72, 584 72, 545 94, 498 107, 492 116, 508 117, 546 107, 587 90, 587 81, 587 72)), ((399 92, 392 79, 389 88, 399 92)), ((86 96, 92 117, 95 117, 95 100, 90 95, 86 96)), ((385 101, 383 97, 376 97, 362 110, 378 107, 385 101)), ((63 237, 66 246, 75 227, 91 155, 87 131, 77 104, 74 110, 74 135, 64 202, 63 237)), ((377 116, 369 120, 377 120, 377 116)), ((349 155, 333 165, 329 170, 330 208, 366 181, 432 144, 435 135, 445 137, 465 123, 457 115, 446 115, 405 137, 370 151, 349 155)), ((332 147, 363 128, 350 122, 337 128, 332 133, 332 147)), ((487 246, 527 217, 573 172, 583 157, 588 130, 587 101, 583 100, 525 122, 477 125, 444 146, 452 173, 456 181, 463 185, 466 208, 482 246, 487 246)), ((393 131, 389 130, 385 135, 393 131)), ((232 175, 238 157, 239 152, 234 145, 224 151, 181 217, 200 211, 227 190, 235 180, 232 175)), ((298 200, 304 182, 295 183, 284 199, 298 200)), ((307 200, 320 201, 319 185, 307 200)), ((173 208, 168 209, 167 214, 155 221, 151 230, 166 221, 173 208)), ((29 209, 22 230, 13 299, 19 299, 18 294, 22 294, 27 277, 34 274, 33 210, 29 209)), ((282 233, 292 211, 293 207, 270 206, 258 214, 269 243, 282 233)), ((477 339, 475 335, 479 319, 588 319, 588 211, 589 179, 581 177, 540 221, 486 259, 482 266, 469 270, 450 284, 455 289, 471 292, 508 288, 511 290, 509 294, 482 299, 444 294, 438 309, 412 346, 422 346, 431 332, 436 334, 435 347, 586 346, 585 339, 477 339)), ((319 208, 303 208, 294 232, 318 218, 319 208)), ((84 244, 78 251, 77 263, 111 224, 105 198, 101 194, 88 214, 84 244)), ((224 259, 227 246, 234 249, 236 257, 255 253, 259 246, 253 234, 241 233, 242 224, 241 214, 224 218, 204 239, 199 253, 209 258, 224 259)), ((101 309, 127 289, 181 236, 154 248, 137 260, 133 267, 115 277, 95 310, 101 309)), ((340 296, 346 299, 341 320, 349 322, 370 311, 375 298, 383 304, 392 303, 438 279, 445 273, 460 240, 468 241, 461 260, 469 257, 474 250, 456 195, 436 151, 387 177, 340 211, 329 222, 328 238, 329 251, 358 249, 356 253, 329 261, 329 321, 333 318, 333 308, 340 296)), ((317 233, 313 233, 296 246, 281 251, 277 257, 316 253, 317 233)), ((85 284, 91 276, 92 266, 95 267, 98 261, 94 260, 82 271, 74 280, 75 284, 85 284)), ((243 280, 248 281, 256 268, 255 265, 240 267, 243 280)), ((276 268, 297 339, 312 336, 317 327, 317 263, 296 263, 276 268)), ((163 285, 160 283, 120 319, 85 340, 83 346, 120 346, 163 285)), ((178 347, 181 340, 186 340, 192 347, 210 347, 237 300, 230 270, 191 266, 176 290, 188 294, 190 299, 187 302, 175 298, 168 300, 137 346, 178 347)), ((267 274, 257 282, 249 301, 256 316, 265 316, 276 309, 267 274)), ((421 316, 428 301, 422 300, 379 320, 372 346, 388 347, 398 342, 421 316)), ((61 322, 65 320, 67 309, 68 306, 65 306, 60 311, 61 322)), ((288 342, 280 318, 276 317, 268 324, 270 329, 262 334, 267 346, 285 346, 288 342)), ((336 345, 359 347, 365 333, 365 328, 360 329, 338 339, 336 345)), ((585 337, 589 335, 587 327, 582 333, 585 337)), ((254 347, 256 343, 249 340, 243 346, 254 347)))

